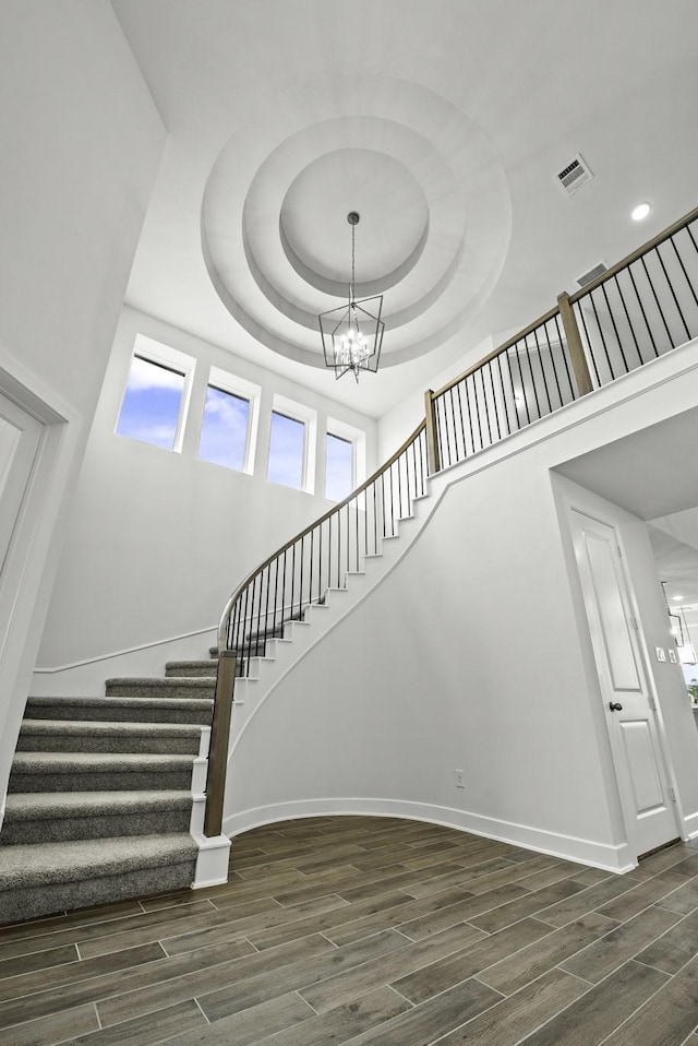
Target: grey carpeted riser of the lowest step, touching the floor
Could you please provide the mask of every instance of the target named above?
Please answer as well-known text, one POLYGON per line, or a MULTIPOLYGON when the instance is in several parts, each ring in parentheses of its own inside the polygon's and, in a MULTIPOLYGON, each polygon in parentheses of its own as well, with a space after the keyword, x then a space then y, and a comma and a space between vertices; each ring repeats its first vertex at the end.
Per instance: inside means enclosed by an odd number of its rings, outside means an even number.
POLYGON ((16 923, 56 912, 91 907, 129 898, 171 893, 191 887, 196 861, 143 868, 101 879, 7 890, 0 894, 0 924, 16 923))

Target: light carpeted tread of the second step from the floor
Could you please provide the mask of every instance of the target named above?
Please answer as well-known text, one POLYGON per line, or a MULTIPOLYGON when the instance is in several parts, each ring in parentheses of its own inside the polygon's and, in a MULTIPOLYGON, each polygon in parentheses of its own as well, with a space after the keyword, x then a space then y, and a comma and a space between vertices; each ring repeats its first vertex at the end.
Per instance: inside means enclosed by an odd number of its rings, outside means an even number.
POLYGON ((22 819, 104 817, 145 810, 190 810, 191 792, 16 792, 7 798, 4 824, 22 819))

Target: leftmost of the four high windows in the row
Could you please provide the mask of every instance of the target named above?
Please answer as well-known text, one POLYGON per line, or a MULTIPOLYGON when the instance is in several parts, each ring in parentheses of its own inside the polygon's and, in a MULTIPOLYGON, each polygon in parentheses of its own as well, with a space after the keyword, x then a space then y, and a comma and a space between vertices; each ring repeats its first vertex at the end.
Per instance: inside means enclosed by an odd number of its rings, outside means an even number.
POLYGON ((181 450, 194 360, 139 334, 121 402, 117 435, 181 450))

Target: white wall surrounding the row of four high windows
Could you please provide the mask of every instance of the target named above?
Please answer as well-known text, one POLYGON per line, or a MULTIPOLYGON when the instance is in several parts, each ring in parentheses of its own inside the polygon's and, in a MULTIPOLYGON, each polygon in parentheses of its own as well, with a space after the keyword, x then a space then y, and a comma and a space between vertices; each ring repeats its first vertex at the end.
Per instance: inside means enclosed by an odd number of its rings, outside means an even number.
MULTIPOLYGON (((329 378, 329 376, 328 376, 329 378)), ((33 692, 104 692, 111 675, 161 674, 166 659, 207 656, 229 595, 266 556, 330 504, 265 479, 273 394, 317 412, 316 489, 324 490, 327 416, 366 432, 375 423, 231 353, 124 308, 73 501, 33 692), (136 334, 196 360, 182 451, 115 435, 136 334), (253 475, 196 456, 209 367, 262 387, 253 475), (112 655, 155 644, 146 655, 112 655), (197 651, 197 654, 196 654, 197 651), (76 671, 47 671, 91 661, 76 671), (117 667, 118 664, 118 667, 117 667)))

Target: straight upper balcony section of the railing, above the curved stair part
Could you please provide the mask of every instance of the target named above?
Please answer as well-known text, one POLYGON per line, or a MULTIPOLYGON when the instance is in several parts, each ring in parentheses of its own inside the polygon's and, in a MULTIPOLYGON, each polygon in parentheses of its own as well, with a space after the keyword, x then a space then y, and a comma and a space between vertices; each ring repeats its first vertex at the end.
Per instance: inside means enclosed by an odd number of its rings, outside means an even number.
POLYGON ((438 472, 698 335, 698 209, 437 392, 438 472))

